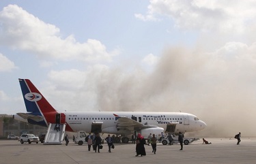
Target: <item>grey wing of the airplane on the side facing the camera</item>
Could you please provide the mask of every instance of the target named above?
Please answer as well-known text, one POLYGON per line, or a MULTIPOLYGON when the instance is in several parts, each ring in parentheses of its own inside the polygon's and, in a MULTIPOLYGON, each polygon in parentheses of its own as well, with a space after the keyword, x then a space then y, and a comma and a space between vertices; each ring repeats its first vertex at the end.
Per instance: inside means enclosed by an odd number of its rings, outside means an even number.
POLYGON ((119 117, 117 119, 117 128, 118 129, 130 129, 130 130, 139 130, 139 129, 146 129, 151 127, 157 127, 154 125, 143 125, 136 120, 132 120, 128 117, 119 117))

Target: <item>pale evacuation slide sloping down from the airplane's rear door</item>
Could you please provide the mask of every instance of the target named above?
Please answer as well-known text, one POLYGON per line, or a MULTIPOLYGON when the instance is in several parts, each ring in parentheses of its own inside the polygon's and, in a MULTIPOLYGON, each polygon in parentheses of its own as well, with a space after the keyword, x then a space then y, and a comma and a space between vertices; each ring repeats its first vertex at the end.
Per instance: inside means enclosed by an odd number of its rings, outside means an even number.
POLYGON ((44 138, 45 145, 61 145, 62 144, 66 125, 59 124, 58 131, 55 126, 56 124, 51 124, 51 123, 48 125, 48 130, 44 138))

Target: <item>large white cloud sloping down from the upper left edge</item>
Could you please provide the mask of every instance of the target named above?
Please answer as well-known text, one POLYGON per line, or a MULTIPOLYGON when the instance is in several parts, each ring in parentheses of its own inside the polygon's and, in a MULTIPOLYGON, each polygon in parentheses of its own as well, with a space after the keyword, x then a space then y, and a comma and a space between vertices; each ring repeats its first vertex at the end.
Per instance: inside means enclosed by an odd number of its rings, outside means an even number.
POLYGON ((96 39, 85 43, 76 41, 73 35, 61 38, 60 30, 29 14, 17 5, 8 5, 0 12, 0 43, 15 49, 36 54, 42 59, 63 61, 111 61, 117 51, 107 52, 96 39))

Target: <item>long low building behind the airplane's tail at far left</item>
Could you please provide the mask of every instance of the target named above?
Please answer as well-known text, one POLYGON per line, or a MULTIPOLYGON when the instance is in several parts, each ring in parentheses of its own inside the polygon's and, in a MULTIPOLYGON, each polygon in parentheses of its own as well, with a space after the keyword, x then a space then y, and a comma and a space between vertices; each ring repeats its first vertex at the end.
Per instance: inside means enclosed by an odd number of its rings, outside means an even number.
POLYGON ((7 137, 10 134, 20 136, 22 133, 40 135, 46 131, 46 127, 14 120, 12 115, 0 114, 0 137, 7 137))

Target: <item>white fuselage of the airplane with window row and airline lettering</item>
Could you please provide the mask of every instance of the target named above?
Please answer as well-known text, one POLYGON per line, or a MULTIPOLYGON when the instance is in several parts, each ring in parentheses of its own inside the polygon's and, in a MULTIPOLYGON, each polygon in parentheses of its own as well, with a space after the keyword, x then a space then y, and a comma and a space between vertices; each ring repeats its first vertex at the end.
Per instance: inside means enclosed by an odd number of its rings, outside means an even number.
POLYGON ((175 132, 200 131, 206 127, 205 122, 197 116, 182 112, 66 112, 66 123, 73 131, 90 132, 91 125, 100 124, 101 133, 118 133, 119 117, 136 118, 143 125, 167 128, 169 122, 180 122, 176 125, 175 132), (115 115, 114 115, 115 114, 115 115))

